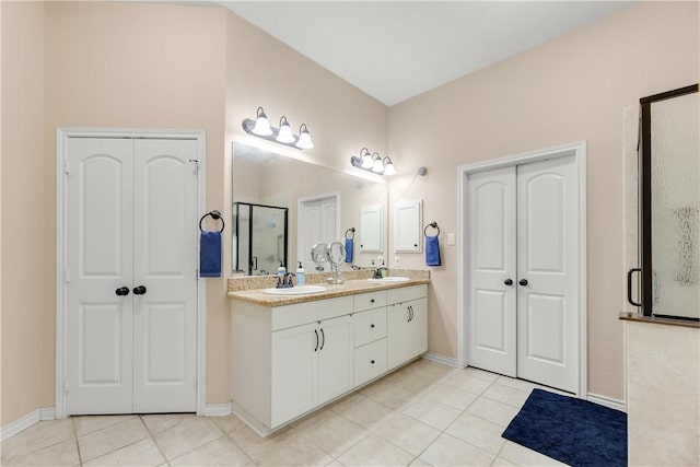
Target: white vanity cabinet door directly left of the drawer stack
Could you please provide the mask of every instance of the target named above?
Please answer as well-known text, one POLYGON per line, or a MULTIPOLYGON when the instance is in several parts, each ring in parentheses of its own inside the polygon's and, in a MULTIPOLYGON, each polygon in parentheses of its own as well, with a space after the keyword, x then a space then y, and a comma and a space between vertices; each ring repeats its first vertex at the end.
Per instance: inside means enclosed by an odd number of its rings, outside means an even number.
POLYGON ((352 318, 327 319, 318 328, 318 404, 323 404, 352 389, 352 318))

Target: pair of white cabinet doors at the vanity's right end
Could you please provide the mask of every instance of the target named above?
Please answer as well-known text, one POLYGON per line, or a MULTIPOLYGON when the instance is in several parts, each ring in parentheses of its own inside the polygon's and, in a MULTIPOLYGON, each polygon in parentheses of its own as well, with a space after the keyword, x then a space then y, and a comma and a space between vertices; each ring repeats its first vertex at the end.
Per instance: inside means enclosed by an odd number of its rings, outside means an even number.
POLYGON ((428 301, 388 306, 387 366, 394 369, 428 351, 428 301))

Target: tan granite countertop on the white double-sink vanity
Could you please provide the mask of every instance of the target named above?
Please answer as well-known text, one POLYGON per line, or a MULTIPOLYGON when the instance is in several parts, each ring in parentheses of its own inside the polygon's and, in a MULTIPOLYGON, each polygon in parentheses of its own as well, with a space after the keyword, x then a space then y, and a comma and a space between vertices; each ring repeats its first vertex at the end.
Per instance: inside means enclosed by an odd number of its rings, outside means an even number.
POLYGON ((283 306, 294 303, 313 302, 316 300, 335 299, 358 293, 375 292, 377 290, 399 289, 402 287, 430 283, 430 279, 410 279, 404 282, 373 282, 365 279, 348 280, 342 284, 320 284, 326 291, 307 295, 270 295, 262 289, 230 291, 230 299, 242 300, 262 306, 283 306))

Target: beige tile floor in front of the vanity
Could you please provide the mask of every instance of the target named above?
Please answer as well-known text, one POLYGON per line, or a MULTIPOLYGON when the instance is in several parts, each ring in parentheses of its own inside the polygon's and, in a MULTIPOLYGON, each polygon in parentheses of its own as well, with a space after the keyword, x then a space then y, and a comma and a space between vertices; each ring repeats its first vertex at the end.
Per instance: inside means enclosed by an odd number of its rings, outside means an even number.
POLYGON ((266 439, 235 416, 90 416, 4 441, 3 466, 546 466, 501 433, 535 385, 418 360, 266 439))

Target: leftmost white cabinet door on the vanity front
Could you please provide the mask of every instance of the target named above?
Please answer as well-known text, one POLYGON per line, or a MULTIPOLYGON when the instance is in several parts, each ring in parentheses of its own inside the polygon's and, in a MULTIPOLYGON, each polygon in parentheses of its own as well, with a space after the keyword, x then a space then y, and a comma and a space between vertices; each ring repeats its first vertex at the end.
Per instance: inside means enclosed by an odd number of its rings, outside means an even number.
POLYGON ((272 427, 316 407, 319 347, 317 323, 272 332, 272 427))

